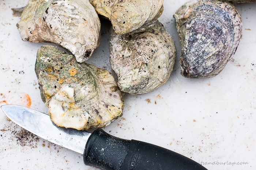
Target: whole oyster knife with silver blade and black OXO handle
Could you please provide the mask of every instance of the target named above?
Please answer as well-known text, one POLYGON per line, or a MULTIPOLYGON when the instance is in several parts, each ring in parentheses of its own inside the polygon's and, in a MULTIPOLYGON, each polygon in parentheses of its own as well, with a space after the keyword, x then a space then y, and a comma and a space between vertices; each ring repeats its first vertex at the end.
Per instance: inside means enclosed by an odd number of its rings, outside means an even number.
POLYGON ((85 165, 103 170, 207 170, 199 163, 150 143, 114 137, 102 129, 93 133, 56 126, 50 116, 18 105, 3 105, 13 122, 52 143, 83 154, 85 165))

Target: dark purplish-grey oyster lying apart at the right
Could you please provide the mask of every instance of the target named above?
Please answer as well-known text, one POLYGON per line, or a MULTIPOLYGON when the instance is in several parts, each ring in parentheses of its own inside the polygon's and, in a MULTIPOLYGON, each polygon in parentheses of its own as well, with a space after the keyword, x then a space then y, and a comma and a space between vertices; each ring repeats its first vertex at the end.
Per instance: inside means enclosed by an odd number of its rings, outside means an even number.
POLYGON ((207 78, 219 74, 241 39, 241 16, 230 3, 192 0, 174 14, 181 42, 181 75, 207 78))

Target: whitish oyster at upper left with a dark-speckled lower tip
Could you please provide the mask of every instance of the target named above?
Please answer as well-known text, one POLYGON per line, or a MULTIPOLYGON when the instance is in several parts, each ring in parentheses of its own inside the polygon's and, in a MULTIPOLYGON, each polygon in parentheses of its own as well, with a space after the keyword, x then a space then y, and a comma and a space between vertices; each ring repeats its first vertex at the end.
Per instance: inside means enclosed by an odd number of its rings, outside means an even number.
POLYGON ((24 41, 53 42, 87 60, 99 44, 100 21, 86 0, 30 0, 17 24, 24 41))

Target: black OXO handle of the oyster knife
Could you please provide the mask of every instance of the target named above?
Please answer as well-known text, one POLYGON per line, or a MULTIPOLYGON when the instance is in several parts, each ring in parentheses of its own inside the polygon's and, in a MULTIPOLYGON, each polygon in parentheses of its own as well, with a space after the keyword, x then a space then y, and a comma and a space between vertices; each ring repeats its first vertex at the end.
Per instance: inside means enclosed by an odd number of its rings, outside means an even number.
POLYGON ((84 149, 85 165, 103 170, 207 170, 199 163, 150 143, 95 130, 84 149))

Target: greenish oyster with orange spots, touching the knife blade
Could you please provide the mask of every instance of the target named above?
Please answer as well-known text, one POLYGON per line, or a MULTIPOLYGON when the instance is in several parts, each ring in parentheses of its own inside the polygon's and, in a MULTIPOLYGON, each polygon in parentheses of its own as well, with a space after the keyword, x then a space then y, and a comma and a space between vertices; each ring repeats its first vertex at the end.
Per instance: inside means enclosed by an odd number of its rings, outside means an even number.
POLYGON ((77 63, 53 46, 37 51, 35 72, 51 120, 66 128, 107 126, 122 115, 123 98, 107 70, 77 63))

